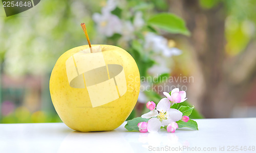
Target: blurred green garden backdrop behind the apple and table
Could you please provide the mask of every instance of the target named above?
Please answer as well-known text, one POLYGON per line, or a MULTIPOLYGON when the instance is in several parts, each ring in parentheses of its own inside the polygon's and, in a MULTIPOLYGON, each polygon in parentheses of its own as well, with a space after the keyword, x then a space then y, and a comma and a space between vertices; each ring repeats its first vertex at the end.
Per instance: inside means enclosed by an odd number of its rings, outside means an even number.
POLYGON ((174 87, 186 90, 189 104, 183 105, 195 105, 191 118, 255 117, 255 5, 253 0, 44 0, 6 17, 1 4, 0 123, 61 121, 51 102, 50 74, 61 54, 87 44, 81 22, 91 43, 124 48, 141 77, 152 78, 141 82, 129 119, 174 87))

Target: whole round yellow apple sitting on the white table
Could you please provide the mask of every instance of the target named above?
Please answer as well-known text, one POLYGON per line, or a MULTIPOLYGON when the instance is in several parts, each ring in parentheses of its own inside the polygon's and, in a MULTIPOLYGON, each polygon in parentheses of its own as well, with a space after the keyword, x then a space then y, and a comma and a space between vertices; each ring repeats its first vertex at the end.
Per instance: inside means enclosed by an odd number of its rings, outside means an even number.
POLYGON ((133 57, 120 47, 92 48, 96 52, 90 53, 89 45, 83 45, 59 57, 50 78, 51 98, 71 129, 110 131, 125 121, 136 104, 139 70, 133 57))

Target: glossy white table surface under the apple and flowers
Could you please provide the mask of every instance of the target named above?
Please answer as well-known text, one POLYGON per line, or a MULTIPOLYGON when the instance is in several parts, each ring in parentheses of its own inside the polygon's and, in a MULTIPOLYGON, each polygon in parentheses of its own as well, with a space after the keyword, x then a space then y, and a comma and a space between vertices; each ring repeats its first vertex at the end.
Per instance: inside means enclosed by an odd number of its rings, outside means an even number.
POLYGON ((127 132, 126 122, 114 131, 89 133, 73 131, 64 123, 0 124, 0 152, 243 152, 236 151, 236 146, 256 146, 256 118, 196 121, 199 131, 157 134, 127 132))

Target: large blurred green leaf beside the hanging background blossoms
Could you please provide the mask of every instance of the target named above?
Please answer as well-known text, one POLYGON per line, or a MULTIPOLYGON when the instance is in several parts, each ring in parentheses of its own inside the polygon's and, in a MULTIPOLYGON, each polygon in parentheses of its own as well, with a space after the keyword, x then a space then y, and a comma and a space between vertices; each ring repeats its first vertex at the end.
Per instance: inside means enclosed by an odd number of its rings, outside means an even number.
POLYGON ((152 16, 147 23, 173 34, 190 35, 185 21, 172 13, 159 13, 152 16))

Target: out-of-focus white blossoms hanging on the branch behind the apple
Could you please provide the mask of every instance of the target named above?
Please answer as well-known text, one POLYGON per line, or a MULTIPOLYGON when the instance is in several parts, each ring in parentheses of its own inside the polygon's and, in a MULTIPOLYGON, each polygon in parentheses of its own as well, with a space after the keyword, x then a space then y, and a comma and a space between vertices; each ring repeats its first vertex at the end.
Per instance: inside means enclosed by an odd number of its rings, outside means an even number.
POLYGON ((106 38, 111 38, 114 34, 120 34, 121 38, 118 39, 117 43, 122 47, 125 47, 125 44, 129 44, 130 41, 137 38, 144 52, 150 55, 150 58, 157 63, 148 69, 148 73, 152 75, 168 73, 170 70, 166 65, 167 61, 172 56, 180 55, 181 50, 174 47, 175 42, 173 40, 168 40, 157 33, 146 31, 145 27, 147 23, 143 18, 145 12, 141 10, 135 11, 133 8, 125 8, 125 6, 129 6, 126 3, 129 2, 117 0, 106 1, 101 8, 101 12, 94 13, 92 16, 96 23, 97 32, 100 36, 106 38), (113 11, 117 8, 126 9, 129 12, 125 15, 117 16, 113 14, 113 11), (142 34, 144 38, 138 39, 138 33, 142 34))

